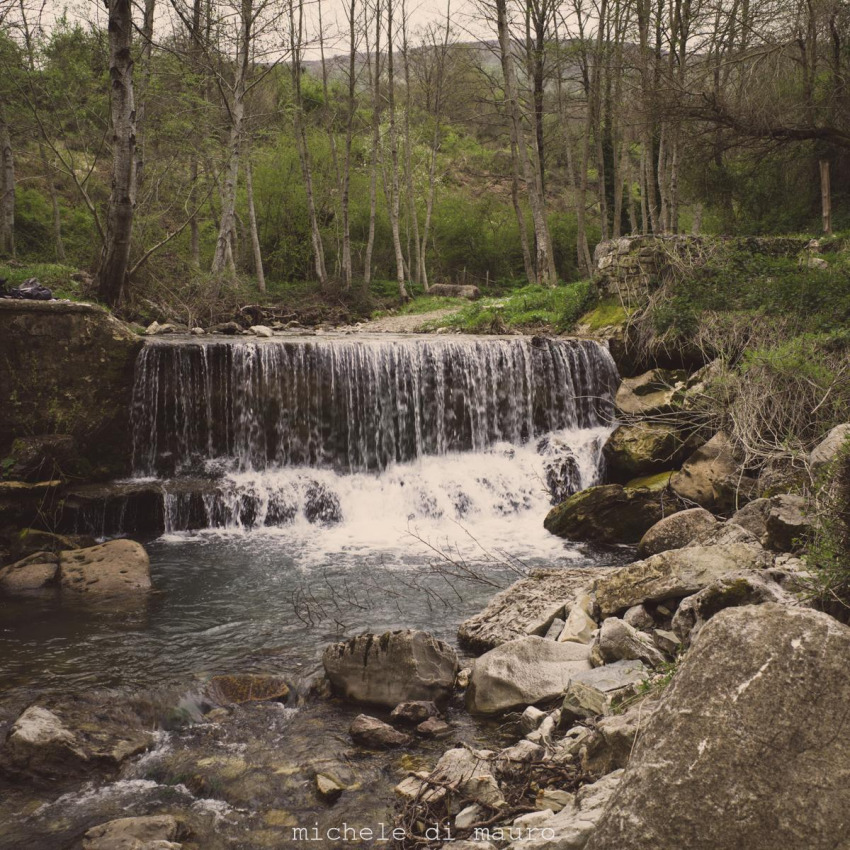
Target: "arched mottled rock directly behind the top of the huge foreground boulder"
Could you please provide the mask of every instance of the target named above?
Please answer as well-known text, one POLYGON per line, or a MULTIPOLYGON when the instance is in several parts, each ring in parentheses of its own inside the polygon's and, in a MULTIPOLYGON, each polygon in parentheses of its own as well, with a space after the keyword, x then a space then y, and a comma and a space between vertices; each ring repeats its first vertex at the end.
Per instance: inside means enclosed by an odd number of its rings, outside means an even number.
POLYGON ((766 578, 764 573, 728 573, 699 593, 682 600, 673 616, 673 631, 687 646, 718 611, 740 605, 762 605, 765 602, 797 604, 793 596, 766 578))

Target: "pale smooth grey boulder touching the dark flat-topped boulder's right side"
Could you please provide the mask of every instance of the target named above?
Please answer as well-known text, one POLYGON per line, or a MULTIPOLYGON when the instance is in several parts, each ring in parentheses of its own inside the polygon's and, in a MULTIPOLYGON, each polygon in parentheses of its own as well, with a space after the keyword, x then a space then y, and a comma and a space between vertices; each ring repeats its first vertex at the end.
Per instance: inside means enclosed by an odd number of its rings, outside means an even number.
POLYGON ((473 714, 498 714, 554 699, 572 675, 588 669, 588 648, 582 644, 518 638, 476 659, 466 706, 473 714))

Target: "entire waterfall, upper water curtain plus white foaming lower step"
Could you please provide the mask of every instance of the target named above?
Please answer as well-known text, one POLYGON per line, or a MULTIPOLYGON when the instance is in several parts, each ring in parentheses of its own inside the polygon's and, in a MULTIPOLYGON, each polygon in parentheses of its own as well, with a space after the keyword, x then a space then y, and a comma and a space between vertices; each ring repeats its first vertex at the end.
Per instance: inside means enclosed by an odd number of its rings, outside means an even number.
POLYGON ((616 380, 591 341, 156 341, 135 475, 168 532, 504 517, 597 480, 616 380))

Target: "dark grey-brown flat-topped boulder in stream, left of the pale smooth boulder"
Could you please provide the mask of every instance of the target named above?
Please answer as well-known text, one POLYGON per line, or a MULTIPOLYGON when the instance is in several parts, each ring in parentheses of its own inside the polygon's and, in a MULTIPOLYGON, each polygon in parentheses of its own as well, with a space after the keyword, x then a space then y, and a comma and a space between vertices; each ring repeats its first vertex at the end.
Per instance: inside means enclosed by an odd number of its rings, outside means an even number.
POLYGON ((337 693, 387 708, 409 700, 448 699, 459 667, 448 644, 411 629, 332 644, 322 664, 337 693))

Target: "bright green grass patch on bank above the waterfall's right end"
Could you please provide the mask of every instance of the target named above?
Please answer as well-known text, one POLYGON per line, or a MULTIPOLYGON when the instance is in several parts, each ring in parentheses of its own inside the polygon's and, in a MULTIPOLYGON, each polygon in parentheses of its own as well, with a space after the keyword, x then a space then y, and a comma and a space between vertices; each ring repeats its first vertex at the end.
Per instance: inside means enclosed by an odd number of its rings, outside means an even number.
POLYGON ((554 288, 529 285, 501 298, 467 303, 458 312, 429 322, 426 327, 447 327, 465 333, 562 332, 575 326, 593 298, 594 288, 588 281, 554 288))

